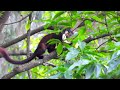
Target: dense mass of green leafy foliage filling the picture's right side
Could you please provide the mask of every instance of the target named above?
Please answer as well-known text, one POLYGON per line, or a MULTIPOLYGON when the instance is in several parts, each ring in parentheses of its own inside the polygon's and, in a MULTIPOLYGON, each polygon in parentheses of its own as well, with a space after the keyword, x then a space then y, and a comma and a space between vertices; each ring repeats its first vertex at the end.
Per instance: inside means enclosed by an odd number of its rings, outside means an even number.
POLYGON ((77 35, 69 39, 72 45, 57 40, 51 41, 57 42, 56 50, 59 57, 49 61, 55 67, 35 67, 32 69, 33 78, 120 78, 119 11, 46 11, 42 18, 33 22, 44 22, 46 27, 54 25, 55 30, 47 32, 56 33, 59 31, 58 26, 73 28, 77 20, 83 19, 87 19, 84 26, 79 27, 77 35), (108 33, 112 35, 89 43, 83 42, 89 36, 95 38, 108 33))

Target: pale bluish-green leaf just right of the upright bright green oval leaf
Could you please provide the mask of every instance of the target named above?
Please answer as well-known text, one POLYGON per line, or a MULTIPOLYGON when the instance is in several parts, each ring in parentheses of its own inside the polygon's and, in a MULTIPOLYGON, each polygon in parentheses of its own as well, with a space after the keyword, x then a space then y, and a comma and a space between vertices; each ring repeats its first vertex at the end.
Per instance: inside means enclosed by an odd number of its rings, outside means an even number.
POLYGON ((69 50, 70 50, 70 52, 67 53, 66 58, 65 58, 66 60, 75 58, 79 54, 79 51, 75 48, 69 48, 69 50))

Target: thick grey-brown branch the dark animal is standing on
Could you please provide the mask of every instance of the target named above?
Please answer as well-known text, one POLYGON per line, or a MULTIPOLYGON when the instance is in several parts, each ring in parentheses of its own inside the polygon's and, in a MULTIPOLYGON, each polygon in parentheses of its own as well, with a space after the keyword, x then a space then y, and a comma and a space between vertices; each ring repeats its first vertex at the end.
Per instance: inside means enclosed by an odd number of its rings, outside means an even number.
POLYGON ((45 63, 55 57, 57 57, 57 53, 55 51, 53 51, 49 55, 45 56, 43 59, 31 61, 29 63, 23 64, 23 65, 20 65, 20 66, 14 68, 12 72, 4 75, 1 79, 11 79, 16 74, 30 70, 31 68, 34 68, 36 66, 42 65, 43 63, 45 63))

